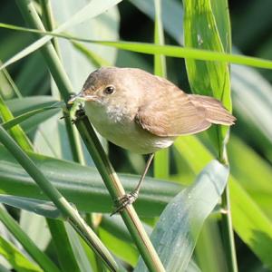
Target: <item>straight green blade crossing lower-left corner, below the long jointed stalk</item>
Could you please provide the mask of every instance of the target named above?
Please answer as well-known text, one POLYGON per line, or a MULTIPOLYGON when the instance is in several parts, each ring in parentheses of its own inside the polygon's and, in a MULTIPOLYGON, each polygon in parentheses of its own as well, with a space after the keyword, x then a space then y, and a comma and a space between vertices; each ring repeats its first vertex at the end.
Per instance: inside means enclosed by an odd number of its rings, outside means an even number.
POLYGON ((37 264, 44 269, 44 271, 57 272, 60 271, 53 262, 47 257, 43 251, 37 248, 32 241, 20 228, 18 223, 13 219, 4 209, 0 208, 0 220, 5 227, 15 236, 15 238, 22 244, 26 252, 33 257, 37 264))

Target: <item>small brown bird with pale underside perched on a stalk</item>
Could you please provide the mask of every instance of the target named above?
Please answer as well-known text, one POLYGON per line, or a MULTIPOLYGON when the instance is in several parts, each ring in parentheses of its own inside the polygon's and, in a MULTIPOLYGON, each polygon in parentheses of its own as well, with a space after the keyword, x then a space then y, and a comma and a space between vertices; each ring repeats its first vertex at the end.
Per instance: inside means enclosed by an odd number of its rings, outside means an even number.
POLYGON ((69 103, 79 97, 102 137, 123 149, 150 154, 137 187, 120 199, 117 211, 138 198, 156 151, 170 147, 180 135, 206 131, 212 124, 230 126, 236 121, 217 99, 188 94, 167 79, 138 68, 95 70, 69 103))

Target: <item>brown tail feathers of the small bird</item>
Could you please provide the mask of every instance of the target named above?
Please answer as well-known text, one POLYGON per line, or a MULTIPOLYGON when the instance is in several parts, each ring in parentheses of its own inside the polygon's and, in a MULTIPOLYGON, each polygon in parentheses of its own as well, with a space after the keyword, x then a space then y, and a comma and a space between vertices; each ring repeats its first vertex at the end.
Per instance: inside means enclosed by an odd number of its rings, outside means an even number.
POLYGON ((189 100, 196 107, 204 108, 206 120, 211 123, 232 125, 236 118, 224 108, 221 102, 213 97, 189 94, 189 100))

